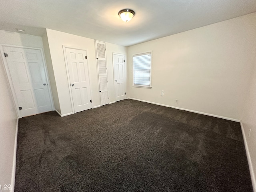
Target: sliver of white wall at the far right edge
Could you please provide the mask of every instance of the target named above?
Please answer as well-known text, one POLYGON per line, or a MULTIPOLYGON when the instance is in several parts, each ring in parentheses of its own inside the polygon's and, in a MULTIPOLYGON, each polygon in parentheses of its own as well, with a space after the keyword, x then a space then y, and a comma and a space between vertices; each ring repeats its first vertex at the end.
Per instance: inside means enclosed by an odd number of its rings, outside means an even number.
POLYGON ((254 62, 254 69, 252 69, 252 72, 250 88, 245 100, 246 105, 241 124, 244 131, 245 144, 247 144, 252 184, 254 191, 256 191, 256 62, 254 62))

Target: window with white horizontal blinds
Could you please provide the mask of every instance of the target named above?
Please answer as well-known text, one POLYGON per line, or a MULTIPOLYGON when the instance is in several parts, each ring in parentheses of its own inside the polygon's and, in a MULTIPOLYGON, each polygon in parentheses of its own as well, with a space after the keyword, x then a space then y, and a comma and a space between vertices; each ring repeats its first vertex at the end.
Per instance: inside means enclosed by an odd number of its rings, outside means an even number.
POLYGON ((133 86, 151 88, 151 52, 133 56, 133 86))

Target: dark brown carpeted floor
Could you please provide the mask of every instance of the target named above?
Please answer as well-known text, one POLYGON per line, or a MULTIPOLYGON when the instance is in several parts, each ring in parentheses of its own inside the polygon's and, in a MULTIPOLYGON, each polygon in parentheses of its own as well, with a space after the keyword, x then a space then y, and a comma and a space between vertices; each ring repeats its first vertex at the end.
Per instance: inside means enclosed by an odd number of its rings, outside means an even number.
POLYGON ((15 192, 252 192, 240 124, 123 100, 19 120, 15 192))

